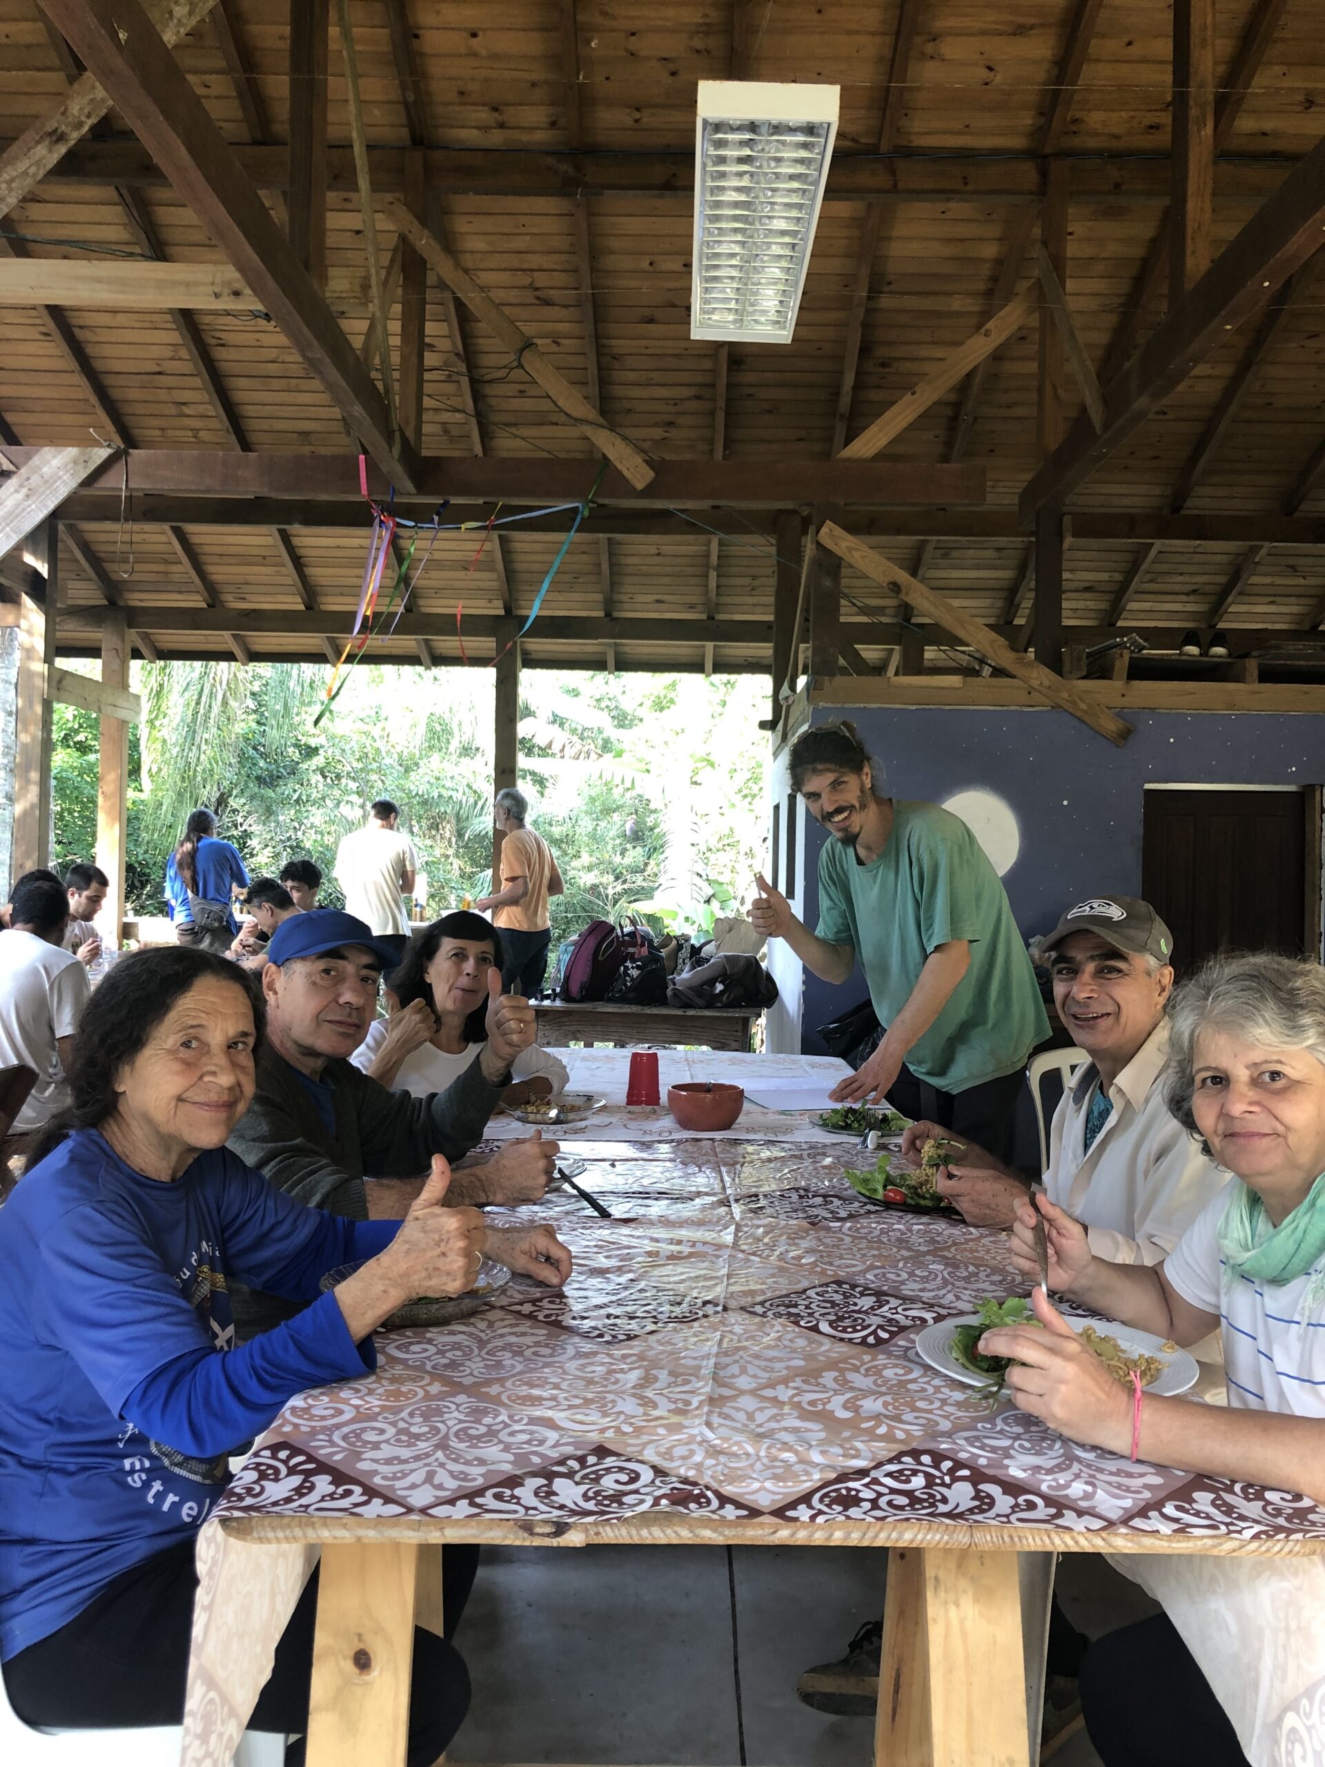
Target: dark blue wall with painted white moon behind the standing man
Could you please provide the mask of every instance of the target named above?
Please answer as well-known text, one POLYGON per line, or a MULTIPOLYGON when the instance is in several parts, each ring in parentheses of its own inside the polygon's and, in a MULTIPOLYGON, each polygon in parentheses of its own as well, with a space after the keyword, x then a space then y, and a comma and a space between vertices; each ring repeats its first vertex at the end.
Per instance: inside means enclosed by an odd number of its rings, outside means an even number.
MULTIPOLYGON (((1030 938, 1048 933, 1083 896, 1141 891, 1141 800, 1147 785, 1325 783, 1325 717, 1268 712, 1136 712, 1122 749, 1056 710, 958 707, 816 709, 814 724, 850 717, 883 763, 892 797, 943 802, 986 790, 1018 818, 1021 846, 1003 876, 1030 938)), ((818 915, 816 862, 825 834, 806 820, 802 919, 818 915)), ((855 975, 830 988, 806 975, 802 1048, 822 1053, 814 1027, 866 993, 855 975)))

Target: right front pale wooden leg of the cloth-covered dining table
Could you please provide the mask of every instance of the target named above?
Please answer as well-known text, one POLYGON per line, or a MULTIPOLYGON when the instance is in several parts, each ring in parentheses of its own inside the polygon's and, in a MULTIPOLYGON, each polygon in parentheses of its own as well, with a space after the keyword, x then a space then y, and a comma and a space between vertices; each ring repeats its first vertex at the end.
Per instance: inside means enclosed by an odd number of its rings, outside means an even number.
POLYGON ((876 1767, 1026 1767, 1016 1553, 892 1551, 876 1767))

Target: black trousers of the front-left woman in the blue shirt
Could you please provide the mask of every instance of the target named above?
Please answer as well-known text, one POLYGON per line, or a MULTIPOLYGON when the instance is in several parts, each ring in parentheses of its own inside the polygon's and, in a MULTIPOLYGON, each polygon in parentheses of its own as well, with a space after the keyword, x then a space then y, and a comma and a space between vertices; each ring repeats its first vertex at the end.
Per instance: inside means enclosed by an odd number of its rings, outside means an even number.
MULTIPOLYGON (((408 1767, 433 1767, 468 1710, 468 1670, 449 1640, 465 1612, 477 1566, 477 1546, 447 1546, 442 1555, 447 1636, 415 1627, 408 1767)), ((196 1590, 193 1541, 170 1546, 117 1576, 58 1633, 5 1663, 9 1703, 23 1723, 46 1730, 138 1730, 182 1723, 196 1590)), ((316 1612, 314 1571, 281 1634, 270 1680, 247 1725, 249 1730, 300 1737, 286 1746, 286 1767, 304 1767, 316 1612)))

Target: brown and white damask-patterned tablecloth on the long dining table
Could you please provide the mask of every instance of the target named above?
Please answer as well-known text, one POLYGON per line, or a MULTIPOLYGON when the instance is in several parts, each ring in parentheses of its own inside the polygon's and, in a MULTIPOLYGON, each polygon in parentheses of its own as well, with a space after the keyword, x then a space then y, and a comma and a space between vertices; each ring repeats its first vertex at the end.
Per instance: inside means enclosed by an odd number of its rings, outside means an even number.
MULTIPOLYGON (((915 1518, 991 1539, 1060 1528, 1118 1553, 1155 1536, 1325 1541, 1306 1497, 1076 1447, 920 1362, 924 1325, 1026 1290, 1002 1233, 860 1202, 843 1177, 855 1145, 574 1152, 613 1219, 567 1194, 489 1212, 555 1221, 576 1260, 567 1288, 512 1281, 456 1325, 382 1334, 373 1376, 286 1407, 221 1523, 329 1516, 371 1536, 401 1516, 592 1527, 657 1511, 777 1516, 806 1539, 915 1518)), ((208 1525, 203 1557, 186 1767, 223 1767, 313 1550, 208 1525), (249 1599, 256 1562, 272 1576, 249 1599)), ((1321 1700, 1307 1705, 1284 1719, 1284 1763, 1307 1760, 1321 1700)))

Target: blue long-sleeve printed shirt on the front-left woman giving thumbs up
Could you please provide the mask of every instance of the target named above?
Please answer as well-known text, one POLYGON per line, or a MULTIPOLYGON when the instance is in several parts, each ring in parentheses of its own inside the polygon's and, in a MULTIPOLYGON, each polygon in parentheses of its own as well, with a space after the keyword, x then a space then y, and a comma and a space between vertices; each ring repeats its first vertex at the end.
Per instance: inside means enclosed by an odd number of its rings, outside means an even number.
POLYGON ((0 1659, 196 1534, 286 1399, 376 1366, 318 1281, 398 1230, 228 1149, 163 1184, 81 1129, 26 1173, 0 1210, 0 1659), (231 1278, 313 1304, 237 1345, 231 1278))

